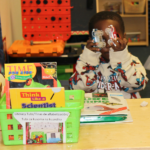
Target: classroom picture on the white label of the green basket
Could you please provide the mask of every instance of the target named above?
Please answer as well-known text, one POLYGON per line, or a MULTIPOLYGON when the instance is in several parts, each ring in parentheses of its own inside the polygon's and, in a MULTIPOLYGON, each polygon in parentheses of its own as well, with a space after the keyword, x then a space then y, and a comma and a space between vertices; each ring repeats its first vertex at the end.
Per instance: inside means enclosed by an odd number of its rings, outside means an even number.
POLYGON ((63 143, 62 123, 26 123, 27 143, 63 143))

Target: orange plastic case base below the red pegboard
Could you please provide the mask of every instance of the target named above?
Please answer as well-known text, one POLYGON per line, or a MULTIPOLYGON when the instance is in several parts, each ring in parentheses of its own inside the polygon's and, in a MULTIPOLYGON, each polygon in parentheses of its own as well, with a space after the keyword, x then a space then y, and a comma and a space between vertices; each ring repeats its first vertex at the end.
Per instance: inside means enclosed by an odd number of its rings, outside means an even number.
POLYGON ((50 44, 30 45, 30 41, 16 40, 7 50, 11 57, 49 57, 64 53, 65 42, 57 40, 50 44))

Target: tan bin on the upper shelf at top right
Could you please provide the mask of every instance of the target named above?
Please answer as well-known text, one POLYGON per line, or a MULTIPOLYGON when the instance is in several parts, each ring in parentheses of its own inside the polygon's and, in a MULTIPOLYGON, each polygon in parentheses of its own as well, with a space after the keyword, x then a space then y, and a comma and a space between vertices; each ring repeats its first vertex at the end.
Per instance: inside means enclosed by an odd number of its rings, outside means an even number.
POLYGON ((142 14, 145 11, 145 0, 124 0, 125 13, 142 14))

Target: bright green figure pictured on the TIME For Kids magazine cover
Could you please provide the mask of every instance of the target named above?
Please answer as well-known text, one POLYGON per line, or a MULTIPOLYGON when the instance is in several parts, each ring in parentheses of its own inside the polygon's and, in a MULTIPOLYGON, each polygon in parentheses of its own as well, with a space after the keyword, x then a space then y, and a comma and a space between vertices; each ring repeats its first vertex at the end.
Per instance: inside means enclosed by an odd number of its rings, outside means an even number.
POLYGON ((26 83, 24 85, 24 88, 40 88, 40 87, 42 87, 42 88, 44 88, 44 87, 49 88, 50 85, 43 85, 43 84, 41 84, 39 82, 35 82, 33 79, 27 79, 26 83))

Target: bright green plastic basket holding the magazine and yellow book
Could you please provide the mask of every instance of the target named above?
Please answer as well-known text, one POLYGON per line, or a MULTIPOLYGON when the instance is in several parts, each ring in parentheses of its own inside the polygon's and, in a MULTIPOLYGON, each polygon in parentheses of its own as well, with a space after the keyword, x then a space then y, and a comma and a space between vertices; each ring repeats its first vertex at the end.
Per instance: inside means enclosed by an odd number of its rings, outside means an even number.
POLYGON ((23 130, 19 129, 20 123, 13 117, 14 112, 69 112, 70 116, 65 122, 66 127, 66 143, 76 143, 79 137, 80 115, 84 106, 84 91, 82 90, 66 90, 64 108, 40 108, 40 109, 6 109, 5 99, 0 105, 0 120, 2 137, 5 145, 22 145, 23 140, 18 137, 23 136, 23 130), (69 96, 74 95, 74 100, 70 100, 69 96), (11 116, 11 117, 10 117, 11 116), (8 126, 12 126, 13 130, 8 130, 8 126))

